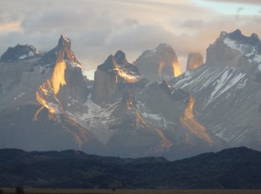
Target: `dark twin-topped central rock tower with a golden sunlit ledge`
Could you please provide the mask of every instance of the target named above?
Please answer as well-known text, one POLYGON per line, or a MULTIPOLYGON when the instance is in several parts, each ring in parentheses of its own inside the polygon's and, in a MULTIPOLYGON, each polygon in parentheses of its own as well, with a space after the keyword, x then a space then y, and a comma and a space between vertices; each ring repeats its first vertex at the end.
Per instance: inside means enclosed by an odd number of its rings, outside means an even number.
POLYGON ((123 51, 117 51, 97 67, 92 99, 97 103, 111 102, 126 91, 135 92, 136 88, 146 83, 147 80, 140 75, 138 68, 128 63, 123 51))

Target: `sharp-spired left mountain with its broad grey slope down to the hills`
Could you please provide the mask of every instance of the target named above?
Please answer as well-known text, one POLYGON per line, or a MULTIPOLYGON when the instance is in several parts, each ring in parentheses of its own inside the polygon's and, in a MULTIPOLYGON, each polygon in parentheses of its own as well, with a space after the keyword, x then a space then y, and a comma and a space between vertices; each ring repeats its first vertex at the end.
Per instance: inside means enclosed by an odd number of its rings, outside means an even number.
POLYGON ((68 37, 44 56, 1 62, 0 75, 0 147, 104 150, 72 116, 87 111, 89 90, 68 37))

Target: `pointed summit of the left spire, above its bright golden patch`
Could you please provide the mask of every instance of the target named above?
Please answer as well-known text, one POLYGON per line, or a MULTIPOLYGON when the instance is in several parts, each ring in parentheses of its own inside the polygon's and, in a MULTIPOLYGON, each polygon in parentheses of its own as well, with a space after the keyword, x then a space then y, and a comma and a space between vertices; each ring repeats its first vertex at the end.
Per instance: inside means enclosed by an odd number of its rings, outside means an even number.
POLYGON ((76 59, 71 50, 71 39, 66 35, 61 35, 58 45, 47 52, 47 54, 44 54, 42 59, 40 59, 40 63, 44 66, 54 66, 56 63, 63 60, 77 63, 78 66, 80 66, 80 62, 76 59))

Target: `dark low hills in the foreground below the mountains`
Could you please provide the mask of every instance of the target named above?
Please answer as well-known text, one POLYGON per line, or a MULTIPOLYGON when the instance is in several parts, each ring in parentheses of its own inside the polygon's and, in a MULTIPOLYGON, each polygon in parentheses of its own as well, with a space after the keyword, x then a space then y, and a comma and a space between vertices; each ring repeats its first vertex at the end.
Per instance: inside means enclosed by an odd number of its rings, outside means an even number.
POLYGON ((0 150, 0 187, 261 188, 261 152, 246 147, 169 162, 122 159, 75 150, 0 150))

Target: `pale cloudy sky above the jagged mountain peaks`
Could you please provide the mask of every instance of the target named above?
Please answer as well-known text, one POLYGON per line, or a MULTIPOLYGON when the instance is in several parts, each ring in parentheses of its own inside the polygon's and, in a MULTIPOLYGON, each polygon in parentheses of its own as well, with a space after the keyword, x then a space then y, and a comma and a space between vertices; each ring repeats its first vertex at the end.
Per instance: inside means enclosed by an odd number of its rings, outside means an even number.
POLYGON ((40 51, 71 37, 91 72, 121 49, 132 62, 145 49, 170 44, 185 69, 189 51, 205 50, 221 31, 261 36, 260 0, 1 0, 0 53, 16 44, 40 51))

